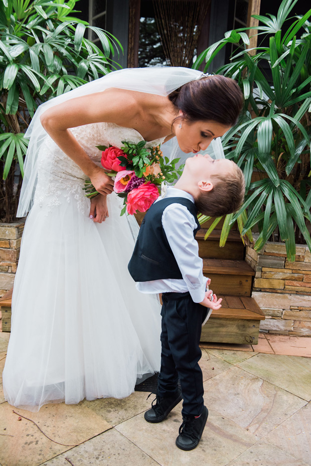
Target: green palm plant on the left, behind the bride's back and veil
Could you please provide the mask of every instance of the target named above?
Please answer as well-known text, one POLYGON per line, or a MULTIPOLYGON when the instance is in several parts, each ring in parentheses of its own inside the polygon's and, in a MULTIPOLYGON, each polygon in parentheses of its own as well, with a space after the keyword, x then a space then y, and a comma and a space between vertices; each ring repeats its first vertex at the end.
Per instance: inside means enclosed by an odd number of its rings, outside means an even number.
POLYGON ((107 74, 115 68, 109 57, 122 50, 109 33, 72 17, 75 4, 0 1, 0 220, 6 222, 17 209, 28 145, 24 133, 38 105, 107 74), (87 29, 102 50, 84 37, 87 29))

